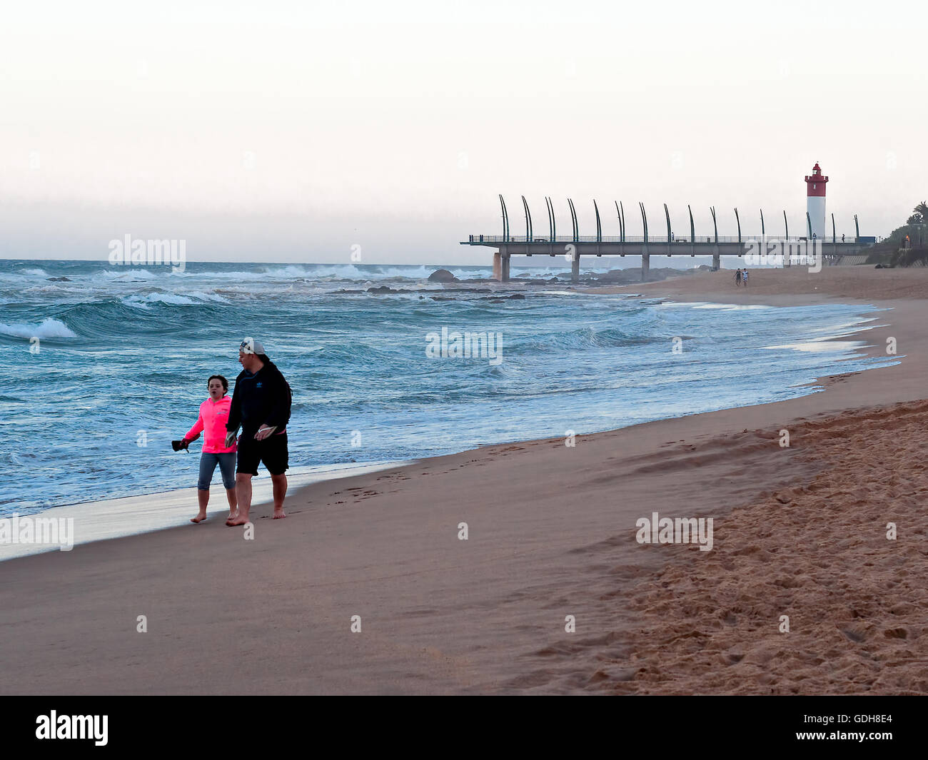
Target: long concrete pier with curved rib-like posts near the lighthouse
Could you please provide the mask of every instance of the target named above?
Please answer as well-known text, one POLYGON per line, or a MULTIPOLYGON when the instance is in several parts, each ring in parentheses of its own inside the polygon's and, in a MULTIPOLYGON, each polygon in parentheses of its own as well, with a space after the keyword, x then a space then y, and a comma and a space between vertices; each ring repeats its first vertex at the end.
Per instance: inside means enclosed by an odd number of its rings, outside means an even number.
POLYGON ((697 235, 693 224, 692 209, 690 212, 689 234, 682 237, 677 235, 670 224, 670 212, 664 203, 664 220, 666 232, 663 235, 651 235, 648 230, 648 215, 643 203, 638 203, 641 214, 643 235, 630 236, 625 234, 625 208, 621 201, 615 202, 615 217, 619 225, 618 236, 604 236, 602 234, 602 221, 599 215, 599 205, 594 200, 593 208, 596 213, 596 235, 581 236, 577 223, 574 201, 568 199, 571 212, 571 234, 557 234, 557 220, 554 216, 554 206, 546 198, 548 207, 548 234, 535 232, 532 213, 528 202, 522 196, 522 208, 525 215, 525 234, 512 235, 509 232, 509 213, 506 201, 499 196, 503 218, 502 235, 470 235, 462 240, 461 245, 484 246, 495 248, 493 255, 493 276, 501 282, 509 280, 509 261, 512 256, 564 256, 571 263, 571 279, 577 282, 580 279, 581 256, 640 256, 641 279, 648 278, 651 268, 651 256, 712 256, 713 269, 721 266, 722 256, 743 257, 747 253, 766 255, 774 251, 784 254, 784 263, 789 265, 791 258, 803 255, 821 256, 822 264, 834 265, 848 262, 850 256, 861 256, 866 249, 876 241, 872 237, 860 237, 857 214, 854 215, 855 234, 853 236, 838 236, 835 229, 834 214, 831 214, 831 237, 817 238, 812 235, 812 223, 806 213, 806 236, 793 236, 789 234, 789 221, 786 212, 783 212, 785 234, 782 236, 767 235, 764 212, 761 211, 761 235, 741 235, 741 217, 738 209, 734 210, 734 218, 738 227, 737 236, 719 236, 718 222, 715 207, 712 207, 713 230, 711 235, 697 235))

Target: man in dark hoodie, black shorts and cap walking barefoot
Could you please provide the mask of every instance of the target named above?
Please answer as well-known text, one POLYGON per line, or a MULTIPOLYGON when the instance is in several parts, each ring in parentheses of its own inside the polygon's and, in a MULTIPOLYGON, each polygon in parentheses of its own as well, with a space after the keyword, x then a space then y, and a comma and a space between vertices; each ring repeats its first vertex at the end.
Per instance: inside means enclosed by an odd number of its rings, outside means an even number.
POLYGON ((251 478, 258 474, 258 464, 271 474, 274 484, 274 519, 287 517, 284 496, 287 496, 288 463, 287 423, 290 421, 290 385, 264 346, 246 338, 238 346, 238 363, 243 367, 235 380, 232 408, 226 423, 226 445, 235 441, 238 427, 238 468, 236 495, 238 516, 230 517, 226 525, 244 525, 251 510, 251 478))

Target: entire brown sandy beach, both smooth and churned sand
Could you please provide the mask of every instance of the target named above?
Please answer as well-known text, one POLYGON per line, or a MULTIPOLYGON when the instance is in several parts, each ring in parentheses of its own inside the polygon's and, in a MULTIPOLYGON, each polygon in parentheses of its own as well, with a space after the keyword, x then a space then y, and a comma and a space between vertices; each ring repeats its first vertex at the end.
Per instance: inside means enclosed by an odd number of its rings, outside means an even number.
POLYGON ((285 521, 257 507, 253 540, 211 517, 8 560, 0 692, 928 691, 928 271, 615 292, 873 304, 886 311, 858 340, 885 356, 895 339, 899 362, 573 448, 491 445, 314 483, 285 521), (638 544, 653 512, 712 517, 713 549, 638 544))

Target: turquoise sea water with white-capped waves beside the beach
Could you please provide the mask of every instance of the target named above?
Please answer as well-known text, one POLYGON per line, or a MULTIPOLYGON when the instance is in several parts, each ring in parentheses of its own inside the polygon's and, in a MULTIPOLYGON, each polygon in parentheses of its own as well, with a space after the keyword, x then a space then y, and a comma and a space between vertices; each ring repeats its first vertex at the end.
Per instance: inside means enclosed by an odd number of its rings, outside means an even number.
POLYGON ((822 342, 873 324, 859 306, 659 303, 491 285, 485 267, 449 267, 461 282, 443 287, 435 268, 0 262, 0 515, 194 483, 170 441, 209 375, 238 374, 245 336, 290 381, 298 469, 766 403, 880 365, 822 342), (498 335, 500 353, 430 358, 443 328, 498 335))

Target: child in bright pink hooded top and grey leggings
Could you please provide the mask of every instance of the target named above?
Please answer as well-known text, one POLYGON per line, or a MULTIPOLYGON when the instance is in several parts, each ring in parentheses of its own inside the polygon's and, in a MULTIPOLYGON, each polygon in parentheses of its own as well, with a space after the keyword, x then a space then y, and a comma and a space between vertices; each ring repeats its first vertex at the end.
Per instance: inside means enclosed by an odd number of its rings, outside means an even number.
POLYGON ((226 499, 229 503, 228 520, 238 517, 238 501, 235 490, 235 455, 236 444, 226 442, 226 422, 229 419, 229 408, 232 399, 226 393, 229 382, 222 375, 213 375, 206 381, 206 389, 210 397, 200 404, 200 417, 187 435, 181 440, 184 448, 192 441, 200 438, 200 432, 205 432, 203 449, 200 452, 200 478, 197 481, 197 501, 200 511, 190 522, 203 522, 206 520, 206 506, 210 502, 210 483, 216 465, 223 476, 223 485, 226 487, 226 499))

